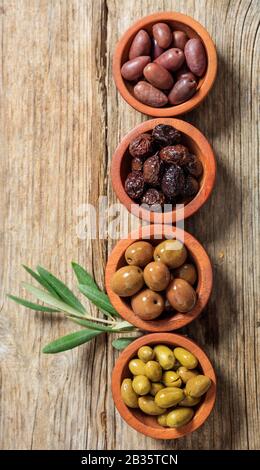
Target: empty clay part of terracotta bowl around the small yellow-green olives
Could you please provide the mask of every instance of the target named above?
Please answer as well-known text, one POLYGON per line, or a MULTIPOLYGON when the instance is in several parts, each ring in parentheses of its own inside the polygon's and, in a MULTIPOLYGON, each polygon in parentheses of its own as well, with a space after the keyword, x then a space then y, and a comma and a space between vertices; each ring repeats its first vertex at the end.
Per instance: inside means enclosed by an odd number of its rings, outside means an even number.
POLYGON ((177 439, 198 429, 209 417, 216 399, 216 375, 210 360, 196 343, 181 335, 154 333, 138 338, 120 354, 112 374, 112 394, 120 415, 136 431, 154 439, 177 439), (137 351, 141 346, 156 344, 166 344, 171 348, 181 346, 189 350, 197 357, 202 373, 212 380, 212 385, 198 405, 193 419, 178 429, 163 428, 157 423, 155 416, 148 416, 141 410, 128 408, 121 398, 121 383, 125 378, 131 377, 128 369, 129 361, 137 355, 137 351))

